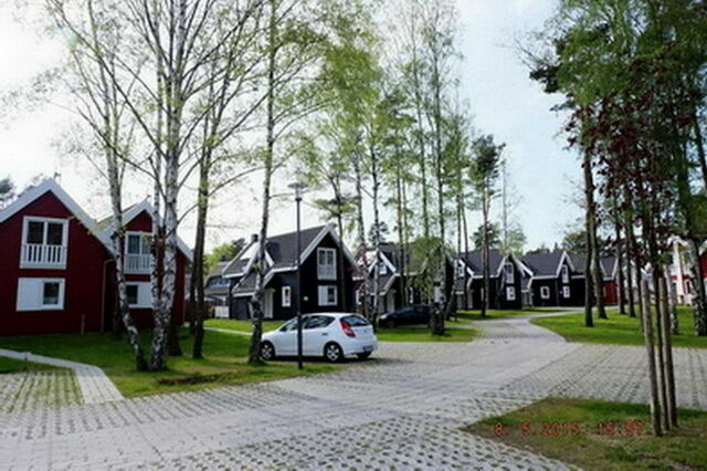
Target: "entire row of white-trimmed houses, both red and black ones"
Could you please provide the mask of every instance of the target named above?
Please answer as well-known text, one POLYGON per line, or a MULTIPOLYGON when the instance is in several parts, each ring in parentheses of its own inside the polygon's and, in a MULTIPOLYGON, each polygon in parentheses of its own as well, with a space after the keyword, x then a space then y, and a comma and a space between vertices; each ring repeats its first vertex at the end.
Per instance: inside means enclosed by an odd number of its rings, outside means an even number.
MULTIPOLYGON (((144 201, 128 207, 123 214, 126 239, 120 250, 125 255, 128 302, 139 326, 151 323, 151 206, 144 201)), ((110 240, 114 230, 112 218, 94 220, 54 180, 25 191, 1 210, 0 335, 109 329, 116 312, 116 254, 110 240)), ((298 258, 296 233, 272 236, 266 241, 263 308, 268 318, 284 320, 295 314, 298 259, 305 313, 360 310, 365 300, 361 257, 367 258, 368 285, 378 279, 374 295, 379 312, 422 302, 410 255, 395 244, 382 244, 378 259, 371 250, 357 259, 330 226, 303 230, 300 242, 298 258)), ((223 316, 249 317, 249 300, 255 287, 252 268, 260 244, 252 239, 234 260, 220 264, 205 281, 207 294, 220 305, 223 316)), ((172 318, 178 324, 186 317, 191 257, 180 240, 172 306, 172 318)), ((492 251, 490 307, 581 306, 583 266, 581 257, 567 252, 518 258, 492 251)), ((618 292, 615 261, 602 260, 602 270, 604 295, 613 303, 618 292)), ((444 296, 455 296, 460 308, 478 308, 483 271, 478 251, 451 257, 444 296)), ((683 289, 689 290, 689 284, 683 289)))

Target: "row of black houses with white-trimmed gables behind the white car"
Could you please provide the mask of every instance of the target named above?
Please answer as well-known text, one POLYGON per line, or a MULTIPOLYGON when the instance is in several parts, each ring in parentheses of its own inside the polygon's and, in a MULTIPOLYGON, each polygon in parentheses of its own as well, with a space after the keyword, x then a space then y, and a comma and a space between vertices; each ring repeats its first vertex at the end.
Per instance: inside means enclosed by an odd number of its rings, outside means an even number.
MULTIPOLYGON (((297 253, 295 232, 273 236, 265 244, 266 269, 263 280, 263 313, 266 318, 286 320, 295 315, 293 296, 297 293, 297 253)), ((330 226, 300 232, 302 311, 361 311, 367 289, 369 305, 379 313, 403 305, 422 303, 415 283, 419 275, 410 254, 393 243, 383 243, 376 258, 373 249, 356 258, 330 226), (362 257, 366 257, 363 263, 362 257), (368 268, 368 283, 361 272, 368 268), (403 275, 404 273, 404 275, 403 275), (377 280, 377 282, 376 282, 377 280), (373 303, 374 285, 378 300, 373 303)), ((255 289, 252 270, 260 241, 254 236, 232 261, 219 264, 205 281, 207 295, 224 317, 250 317, 249 302, 255 289)), ((490 251, 489 307, 520 310, 524 306, 582 306, 584 304, 583 258, 567 252, 526 257, 490 251)), ((613 258, 602 259, 604 297, 616 302, 618 266, 613 258)), ((479 251, 450 257, 446 263, 447 291, 456 306, 477 310, 484 296, 484 266, 479 251)))

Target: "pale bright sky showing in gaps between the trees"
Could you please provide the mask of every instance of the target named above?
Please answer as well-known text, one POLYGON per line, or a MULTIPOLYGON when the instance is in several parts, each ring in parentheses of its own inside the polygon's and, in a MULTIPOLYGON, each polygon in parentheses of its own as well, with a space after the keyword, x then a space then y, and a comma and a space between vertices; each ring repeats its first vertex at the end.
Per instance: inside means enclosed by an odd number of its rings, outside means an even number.
MULTIPOLYGON (((4 64, 0 69, 0 97, 25 87, 63 53, 61 44, 43 39, 35 25, 20 21, 8 3, 0 6, 0 63, 4 64)), ((457 0, 458 49, 464 56, 458 69, 461 97, 469 104, 474 127, 506 144, 509 179, 518 199, 511 217, 528 238, 526 249, 561 241, 564 230, 580 216, 569 202, 580 166, 559 134, 563 118, 550 111, 559 98, 544 94, 528 78, 514 45, 517 38, 542 29, 555 8, 556 0, 457 0)), ((57 103, 2 106, 0 177, 10 176, 22 188, 36 175, 57 174, 67 192, 97 219, 109 212, 105 184, 87 159, 62 149, 61 143, 73 133, 67 125, 72 121, 72 112, 57 103)), ((217 198, 209 247, 257 232, 258 180, 254 175, 217 198)), ((289 182, 286 172, 277 174, 274 193, 286 193, 289 182)), ((148 196, 149 185, 134 179, 126 191, 126 203, 148 196)), ((191 193, 187 191, 183 197, 191 198, 191 193)), ((303 227, 323 222, 307 203, 315 197, 305 196, 303 227)), ((478 214, 472 214, 469 227, 477 227, 479 220, 478 214)), ((271 211, 271 233, 294 230, 295 222, 292 199, 277 198, 271 211)), ((186 218, 180 236, 191 244, 193 232, 193 218, 186 218)))

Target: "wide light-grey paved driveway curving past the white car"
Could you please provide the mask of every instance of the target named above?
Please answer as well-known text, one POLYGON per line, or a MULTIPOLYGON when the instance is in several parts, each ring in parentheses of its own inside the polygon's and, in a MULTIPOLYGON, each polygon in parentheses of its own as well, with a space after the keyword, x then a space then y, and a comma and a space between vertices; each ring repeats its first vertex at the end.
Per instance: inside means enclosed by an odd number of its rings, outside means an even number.
MULTIPOLYGON (((521 318, 484 326, 469 344, 382 344, 330 375, 0 414, 0 467, 559 469, 458 428, 548 394, 643 400, 641 348, 568 344, 521 318)), ((676 362, 680 402, 707 408, 707 356, 676 362)))

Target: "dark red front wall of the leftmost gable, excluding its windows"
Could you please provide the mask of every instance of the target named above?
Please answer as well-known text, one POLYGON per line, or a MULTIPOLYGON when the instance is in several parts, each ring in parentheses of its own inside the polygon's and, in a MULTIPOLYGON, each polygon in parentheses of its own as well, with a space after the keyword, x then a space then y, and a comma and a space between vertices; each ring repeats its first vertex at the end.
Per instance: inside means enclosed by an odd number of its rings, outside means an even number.
POLYGON ((99 331, 103 327, 105 247, 52 193, 46 192, 0 224, 0 335, 99 331), (20 269, 24 216, 68 219, 65 270, 20 269), (17 312, 18 279, 63 278, 63 311, 17 312))

